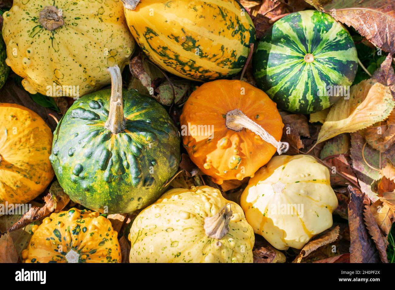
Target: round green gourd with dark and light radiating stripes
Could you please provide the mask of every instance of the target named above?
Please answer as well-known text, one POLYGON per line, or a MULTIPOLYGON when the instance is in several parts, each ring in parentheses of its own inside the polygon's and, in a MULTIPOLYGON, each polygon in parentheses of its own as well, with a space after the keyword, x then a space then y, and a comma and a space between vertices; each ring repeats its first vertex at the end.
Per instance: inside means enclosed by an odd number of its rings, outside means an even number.
POLYGON ((280 109, 301 114, 335 103, 340 96, 327 96, 324 88, 351 85, 357 71, 357 51, 346 28, 330 15, 312 10, 275 22, 253 59, 257 86, 280 109))

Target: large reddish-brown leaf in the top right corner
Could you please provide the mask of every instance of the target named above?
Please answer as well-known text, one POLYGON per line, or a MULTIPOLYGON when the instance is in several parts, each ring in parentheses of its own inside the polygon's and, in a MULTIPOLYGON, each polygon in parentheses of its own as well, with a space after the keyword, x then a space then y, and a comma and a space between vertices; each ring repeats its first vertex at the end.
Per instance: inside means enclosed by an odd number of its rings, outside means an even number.
POLYGON ((305 0, 331 15, 384 51, 395 53, 395 2, 393 0, 305 0))

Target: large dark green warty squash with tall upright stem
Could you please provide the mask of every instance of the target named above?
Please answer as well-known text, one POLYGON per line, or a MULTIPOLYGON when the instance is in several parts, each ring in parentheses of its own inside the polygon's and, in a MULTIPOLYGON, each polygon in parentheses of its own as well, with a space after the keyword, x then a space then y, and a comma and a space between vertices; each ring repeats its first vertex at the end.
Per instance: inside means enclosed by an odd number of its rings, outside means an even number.
POLYGON ((78 99, 58 123, 50 160, 73 201, 129 213, 162 194, 178 169, 180 137, 159 103, 122 90, 118 66, 109 71, 111 90, 78 99))

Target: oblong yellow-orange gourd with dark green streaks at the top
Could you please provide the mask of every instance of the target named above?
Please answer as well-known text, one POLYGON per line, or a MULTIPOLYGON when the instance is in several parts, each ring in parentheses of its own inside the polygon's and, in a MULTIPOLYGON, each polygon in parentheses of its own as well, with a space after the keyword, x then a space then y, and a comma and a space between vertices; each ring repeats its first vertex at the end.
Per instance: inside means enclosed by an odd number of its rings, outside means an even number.
POLYGON ((235 0, 144 0, 125 16, 150 60, 174 75, 208 81, 237 74, 255 42, 254 24, 235 0))

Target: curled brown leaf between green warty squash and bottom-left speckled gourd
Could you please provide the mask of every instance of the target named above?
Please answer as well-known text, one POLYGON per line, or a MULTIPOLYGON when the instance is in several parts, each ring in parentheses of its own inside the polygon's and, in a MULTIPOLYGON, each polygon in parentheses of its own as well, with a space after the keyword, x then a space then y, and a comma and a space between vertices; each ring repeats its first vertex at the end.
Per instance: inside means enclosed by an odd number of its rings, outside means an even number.
POLYGON ((9 228, 9 231, 23 228, 27 224, 43 219, 53 212, 61 211, 70 201, 70 197, 64 193, 58 181, 55 181, 52 183, 49 193, 44 197, 44 200, 45 205, 43 207, 32 206, 17 223, 9 228))

